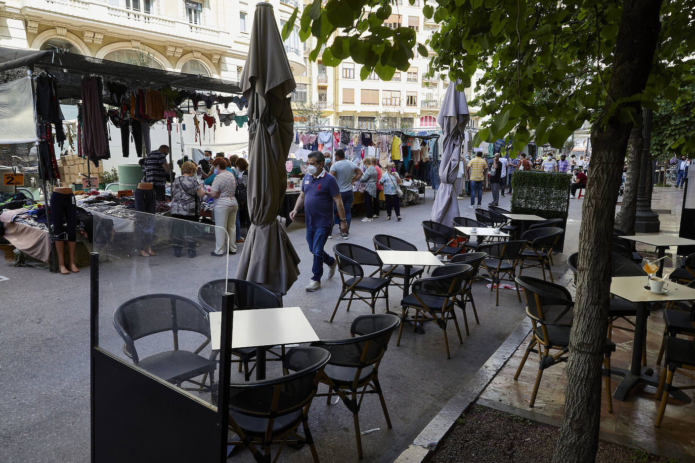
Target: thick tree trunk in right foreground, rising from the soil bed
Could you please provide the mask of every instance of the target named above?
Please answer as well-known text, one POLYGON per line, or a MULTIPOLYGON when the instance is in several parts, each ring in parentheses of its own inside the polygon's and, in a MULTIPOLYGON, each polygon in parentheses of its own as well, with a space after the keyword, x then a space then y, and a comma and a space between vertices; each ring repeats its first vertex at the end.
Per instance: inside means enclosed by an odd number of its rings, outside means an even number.
MULTIPOLYGON (((638 94, 652 68, 660 31, 662 0, 623 1, 621 24, 613 50, 612 76, 606 103, 638 94)), ((637 110, 636 103, 626 103, 637 110)), ((619 110, 603 126, 591 128, 591 176, 582 206, 579 235, 577 297, 566 368, 565 409, 553 461, 594 462, 598 448, 601 365, 606 341, 610 294, 610 238, 620 172, 632 124, 619 110)), ((605 113, 605 110, 604 110, 605 113)))

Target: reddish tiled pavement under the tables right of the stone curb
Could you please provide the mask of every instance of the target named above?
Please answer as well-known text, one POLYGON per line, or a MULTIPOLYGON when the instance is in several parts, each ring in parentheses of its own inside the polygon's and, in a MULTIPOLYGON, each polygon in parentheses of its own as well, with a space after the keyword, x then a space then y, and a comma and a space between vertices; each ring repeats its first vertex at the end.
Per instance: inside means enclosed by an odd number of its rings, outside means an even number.
MULTIPOLYGON (((671 214, 660 215, 662 233, 677 233, 680 224, 680 201, 682 201, 682 194, 677 194, 671 188, 655 189, 653 207, 662 210, 671 209, 671 214)), ((639 244, 638 249, 653 251, 648 246, 639 246, 639 244)), ((664 269, 664 275, 668 275, 669 270, 664 269)), ((564 281, 569 280, 568 289, 573 292, 571 277, 567 277, 569 278, 564 281)), ((656 364, 664 329, 662 314, 662 308, 655 310, 649 317, 647 324, 647 365, 654 369, 654 376, 656 377, 662 371, 662 367, 656 364)), ((628 326, 625 321, 617 324, 628 326)), ((632 332, 614 329, 612 339, 616 343, 617 350, 611 357, 611 366, 627 369, 632 351, 632 332)), ((518 380, 514 380, 514 374, 529 342, 530 335, 521 343, 505 366, 500 369, 480 398, 493 406, 494 404, 507 405, 505 410, 512 412, 516 410, 525 416, 530 413, 541 421, 550 419, 550 421, 556 420, 557 423, 562 421, 564 412, 564 390, 567 383, 564 374, 566 364, 557 364, 543 371, 536 403, 531 408, 529 400, 538 365, 536 353, 529 355, 521 376, 518 380), (512 407, 511 410, 509 407, 512 407)), ((612 377, 611 390, 613 393, 621 379, 619 376, 612 377)), ((693 381, 684 376, 676 375, 674 376, 674 384, 692 385, 693 381)), ((685 392, 690 398, 695 399, 693 391, 693 389, 688 389, 685 392)), ((613 412, 608 413, 605 410, 605 387, 602 382, 603 403, 600 423, 602 437, 627 446, 644 448, 664 457, 678 455, 682 457, 682 460, 695 460, 695 401, 686 404, 669 398, 662 427, 655 428, 654 420, 660 405, 660 401, 655 398, 655 392, 655 387, 637 385, 632 389, 627 401, 613 400, 613 412)))

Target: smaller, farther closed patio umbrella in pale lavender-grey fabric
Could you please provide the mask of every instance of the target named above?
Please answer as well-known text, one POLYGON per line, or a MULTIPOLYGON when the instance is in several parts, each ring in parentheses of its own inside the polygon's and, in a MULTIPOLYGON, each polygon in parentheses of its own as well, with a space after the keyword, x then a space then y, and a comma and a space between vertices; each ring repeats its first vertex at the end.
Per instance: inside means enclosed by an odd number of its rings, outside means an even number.
POLYGON ((454 183, 459 173, 459 158, 461 145, 464 142, 464 128, 468 125, 471 115, 468 113, 468 103, 464 92, 456 90, 461 83, 449 85, 441 102, 437 124, 442 128, 444 140, 439 163, 439 179, 441 184, 434 197, 430 219, 440 224, 451 226, 452 219, 459 215, 459 203, 456 201, 454 183))

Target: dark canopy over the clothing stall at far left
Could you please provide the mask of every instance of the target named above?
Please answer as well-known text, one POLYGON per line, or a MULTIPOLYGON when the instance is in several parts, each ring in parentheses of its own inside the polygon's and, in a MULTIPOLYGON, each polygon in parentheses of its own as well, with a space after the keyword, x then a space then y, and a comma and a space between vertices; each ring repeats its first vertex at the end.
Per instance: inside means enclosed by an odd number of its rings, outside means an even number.
POLYGON ((102 60, 76 53, 0 47, 0 72, 29 66, 35 67, 35 73, 48 71, 56 76, 60 83, 61 99, 79 99, 81 78, 87 74, 111 78, 129 88, 170 85, 208 92, 241 93, 238 83, 217 78, 102 60))

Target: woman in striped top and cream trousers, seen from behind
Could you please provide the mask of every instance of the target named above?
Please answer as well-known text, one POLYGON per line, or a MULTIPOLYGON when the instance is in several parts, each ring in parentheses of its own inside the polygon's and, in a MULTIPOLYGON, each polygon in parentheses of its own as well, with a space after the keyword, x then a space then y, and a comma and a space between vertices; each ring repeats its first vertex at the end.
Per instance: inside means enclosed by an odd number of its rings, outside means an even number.
POLYGON ((215 218, 215 251, 211 255, 218 257, 229 252, 236 254, 236 212, 239 208, 234 194, 236 193, 236 177, 227 171, 227 160, 215 158, 213 160, 215 180, 211 185, 211 193, 215 201, 213 203, 213 217, 215 218), (227 233, 224 233, 224 231, 227 233), (231 237, 231 239, 227 239, 231 237))

